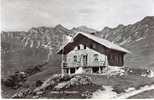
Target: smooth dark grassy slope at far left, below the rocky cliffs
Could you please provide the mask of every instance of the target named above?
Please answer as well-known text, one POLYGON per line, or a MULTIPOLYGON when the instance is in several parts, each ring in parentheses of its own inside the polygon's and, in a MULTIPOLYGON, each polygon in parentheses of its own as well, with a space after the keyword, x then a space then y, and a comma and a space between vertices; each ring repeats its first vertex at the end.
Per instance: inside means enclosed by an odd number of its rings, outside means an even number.
POLYGON ((47 58, 45 49, 25 48, 2 54, 2 76, 13 74, 17 70, 24 70, 29 66, 43 63, 47 58))

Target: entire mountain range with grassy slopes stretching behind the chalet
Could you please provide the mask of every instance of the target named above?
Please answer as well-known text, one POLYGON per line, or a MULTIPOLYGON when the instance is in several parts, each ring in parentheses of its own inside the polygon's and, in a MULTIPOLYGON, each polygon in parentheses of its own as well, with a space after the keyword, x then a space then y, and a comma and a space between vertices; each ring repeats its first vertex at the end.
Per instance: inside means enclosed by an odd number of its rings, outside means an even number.
POLYGON ((95 30, 86 26, 67 29, 62 25, 55 27, 32 27, 28 31, 1 33, 2 77, 31 65, 43 63, 46 74, 60 72, 60 55, 56 51, 68 41, 68 36, 77 32, 95 33, 131 51, 125 57, 125 66, 154 69, 154 16, 141 21, 115 28, 105 27, 95 30))

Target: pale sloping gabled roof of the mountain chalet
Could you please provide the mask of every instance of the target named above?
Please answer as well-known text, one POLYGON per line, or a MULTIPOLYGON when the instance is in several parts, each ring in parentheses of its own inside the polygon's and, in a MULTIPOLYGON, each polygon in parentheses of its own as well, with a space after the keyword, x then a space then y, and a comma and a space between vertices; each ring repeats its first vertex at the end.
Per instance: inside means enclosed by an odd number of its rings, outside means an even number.
MULTIPOLYGON (((88 39, 91 39, 91 40, 105 46, 106 48, 121 51, 121 52, 124 52, 124 53, 130 53, 130 51, 124 49, 123 47, 120 47, 117 44, 114 44, 114 43, 112 43, 108 40, 99 38, 99 37, 92 35, 92 34, 79 32, 75 36, 73 36, 72 40, 74 40, 74 38, 77 37, 78 35, 83 35, 83 36, 87 37, 88 39)), ((66 43, 65 45, 61 46, 57 53, 60 53, 66 46, 71 45, 71 44, 72 44, 72 41, 70 41, 70 42, 66 43)))

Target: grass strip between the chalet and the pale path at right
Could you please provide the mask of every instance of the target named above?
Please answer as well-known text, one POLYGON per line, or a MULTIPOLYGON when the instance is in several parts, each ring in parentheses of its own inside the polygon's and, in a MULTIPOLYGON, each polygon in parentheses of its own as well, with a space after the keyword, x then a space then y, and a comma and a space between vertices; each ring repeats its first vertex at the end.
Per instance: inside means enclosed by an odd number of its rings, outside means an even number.
POLYGON ((147 78, 136 75, 124 75, 124 76, 101 76, 101 75, 89 75, 93 82, 98 85, 112 86, 119 91, 128 89, 129 87, 135 87, 139 89, 144 85, 154 84, 154 78, 147 78))

